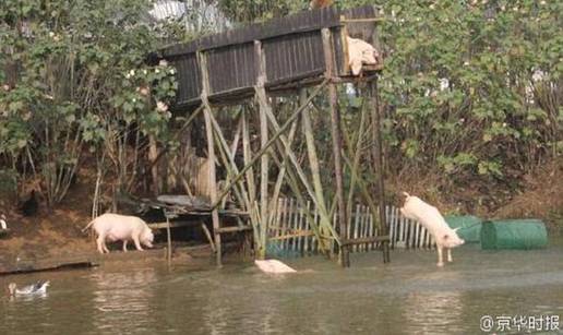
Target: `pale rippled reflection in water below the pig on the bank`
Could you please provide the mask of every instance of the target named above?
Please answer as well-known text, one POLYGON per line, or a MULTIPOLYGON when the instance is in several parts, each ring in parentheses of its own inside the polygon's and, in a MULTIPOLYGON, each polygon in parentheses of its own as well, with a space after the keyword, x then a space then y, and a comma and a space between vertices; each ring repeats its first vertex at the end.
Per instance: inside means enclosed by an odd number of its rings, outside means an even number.
POLYGON ((94 326, 98 331, 149 330, 157 276, 154 268, 123 273, 97 272, 94 284, 94 326))

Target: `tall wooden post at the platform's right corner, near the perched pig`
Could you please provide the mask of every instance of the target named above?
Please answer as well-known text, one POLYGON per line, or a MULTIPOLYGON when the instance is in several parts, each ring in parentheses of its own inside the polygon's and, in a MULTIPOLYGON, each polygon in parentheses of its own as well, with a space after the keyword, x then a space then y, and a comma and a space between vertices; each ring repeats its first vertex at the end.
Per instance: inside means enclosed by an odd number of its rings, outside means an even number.
MULTIPOLYGON (((331 79, 335 74, 331 31, 328 28, 323 28, 322 35, 324 60, 326 67, 325 76, 327 79, 331 79)), ((346 236, 346 226, 348 220, 346 219, 346 204, 344 201, 344 180, 342 163, 343 139, 340 133, 340 110, 338 109, 338 96, 336 92, 336 85, 334 83, 328 84, 328 100, 331 104, 331 131, 333 134, 334 175, 336 178, 336 196, 338 201, 338 220, 340 228, 340 239, 343 241, 346 241, 348 239, 348 237, 346 236)), ((350 266, 348 247, 344 242, 340 244, 340 264, 344 267, 350 266)))

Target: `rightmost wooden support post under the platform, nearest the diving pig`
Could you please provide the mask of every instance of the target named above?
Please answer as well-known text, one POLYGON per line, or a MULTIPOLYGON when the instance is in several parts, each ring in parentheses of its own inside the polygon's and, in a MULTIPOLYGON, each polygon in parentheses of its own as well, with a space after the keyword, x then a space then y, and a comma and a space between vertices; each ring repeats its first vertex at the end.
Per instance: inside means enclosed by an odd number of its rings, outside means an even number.
MULTIPOLYGON (((373 136, 373 168, 378 171, 378 201, 380 204, 380 226, 381 234, 387 235, 387 220, 385 216, 385 189, 384 189, 384 172, 383 172, 383 145, 381 139, 381 116, 380 116, 380 104, 378 97, 378 77, 369 83, 370 96, 372 99, 371 108, 371 122, 372 122, 372 136, 373 136)), ((383 242, 383 262, 390 262, 390 244, 383 242)))

